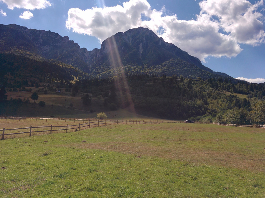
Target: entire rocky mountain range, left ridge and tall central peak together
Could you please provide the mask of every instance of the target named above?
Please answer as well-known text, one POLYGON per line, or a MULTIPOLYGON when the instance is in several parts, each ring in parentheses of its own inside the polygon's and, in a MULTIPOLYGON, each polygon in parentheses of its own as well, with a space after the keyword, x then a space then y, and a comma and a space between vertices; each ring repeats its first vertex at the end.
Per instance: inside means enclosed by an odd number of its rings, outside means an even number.
POLYGON ((232 79, 205 67, 198 58, 142 27, 112 35, 102 42, 100 49, 87 51, 58 33, 0 24, 0 43, 1 53, 61 61, 99 78, 125 71, 131 75, 148 73, 232 79))

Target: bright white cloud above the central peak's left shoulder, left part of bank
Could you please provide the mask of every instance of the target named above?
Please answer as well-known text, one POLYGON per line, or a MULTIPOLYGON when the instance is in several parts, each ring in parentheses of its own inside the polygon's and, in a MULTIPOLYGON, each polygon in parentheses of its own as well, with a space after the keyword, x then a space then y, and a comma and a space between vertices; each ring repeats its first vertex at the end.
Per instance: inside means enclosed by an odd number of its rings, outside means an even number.
POLYGON ((88 10, 71 8, 66 27, 80 34, 95 36, 102 42, 117 32, 138 28, 142 25, 141 13, 148 15, 150 11, 146 0, 130 0, 123 6, 93 7, 88 10))

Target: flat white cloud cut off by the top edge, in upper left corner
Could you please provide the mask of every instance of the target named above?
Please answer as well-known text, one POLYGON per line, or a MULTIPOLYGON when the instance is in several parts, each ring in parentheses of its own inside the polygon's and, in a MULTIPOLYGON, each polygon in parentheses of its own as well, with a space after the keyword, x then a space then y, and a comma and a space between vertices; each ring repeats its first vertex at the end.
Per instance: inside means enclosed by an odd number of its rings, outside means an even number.
POLYGON ((1 1, 7 4, 8 8, 11 10, 13 10, 14 7, 34 10, 51 6, 51 3, 47 0, 0 0, 0 2, 1 1))

